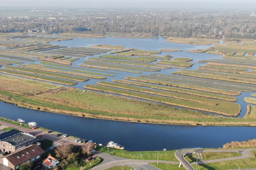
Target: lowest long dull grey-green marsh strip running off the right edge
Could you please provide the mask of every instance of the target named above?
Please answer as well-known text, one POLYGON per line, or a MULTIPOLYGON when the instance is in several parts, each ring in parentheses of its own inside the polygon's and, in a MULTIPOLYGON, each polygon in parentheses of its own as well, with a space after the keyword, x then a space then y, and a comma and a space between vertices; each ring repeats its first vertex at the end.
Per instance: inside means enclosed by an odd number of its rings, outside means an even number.
POLYGON ((228 81, 221 81, 221 80, 213 80, 207 78, 198 78, 198 77, 188 77, 188 76, 179 76, 179 75, 165 75, 165 74, 158 74, 152 73, 148 76, 148 78, 154 79, 161 79, 161 80, 168 80, 178 83, 185 83, 185 84, 194 84, 199 86, 208 86, 208 87, 215 87, 215 88, 223 88, 229 90, 237 90, 237 91, 244 91, 244 92, 255 92, 256 86, 253 84, 241 84, 236 82, 228 82, 228 81), (159 78, 156 76, 166 77, 166 78, 159 78), (198 81, 198 82, 197 82, 198 81))

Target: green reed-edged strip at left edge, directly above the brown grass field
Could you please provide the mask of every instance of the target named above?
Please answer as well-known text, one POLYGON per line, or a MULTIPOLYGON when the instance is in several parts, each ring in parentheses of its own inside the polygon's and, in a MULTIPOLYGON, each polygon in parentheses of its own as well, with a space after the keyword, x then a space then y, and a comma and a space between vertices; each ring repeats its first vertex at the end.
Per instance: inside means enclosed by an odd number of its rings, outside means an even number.
POLYGON ((73 81, 69 81, 69 80, 62 80, 62 79, 58 79, 58 78, 39 76, 39 75, 33 75, 33 74, 28 74, 28 73, 20 73, 18 71, 12 71, 12 70, 0 69, 0 72, 11 74, 11 75, 16 75, 16 76, 27 77, 27 78, 34 78, 36 80, 43 80, 43 81, 48 81, 48 82, 65 84, 65 85, 77 84, 77 82, 73 82, 73 81))

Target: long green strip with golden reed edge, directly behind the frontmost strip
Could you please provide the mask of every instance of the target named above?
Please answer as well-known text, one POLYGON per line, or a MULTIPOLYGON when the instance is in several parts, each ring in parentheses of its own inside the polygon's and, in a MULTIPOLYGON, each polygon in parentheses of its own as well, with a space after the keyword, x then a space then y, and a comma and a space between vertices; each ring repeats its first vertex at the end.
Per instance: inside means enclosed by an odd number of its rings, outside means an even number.
POLYGON ((112 82, 98 82, 97 84, 103 85, 103 86, 114 87, 114 88, 121 88, 121 89, 125 89, 125 90, 132 90, 132 91, 136 91, 136 92, 155 94, 155 95, 160 95, 160 96, 164 96, 164 97, 172 97, 175 99, 194 101, 194 102, 203 103, 203 104, 207 104, 207 105, 218 105, 219 102, 221 102, 220 100, 207 99, 207 98, 203 98, 203 97, 199 97, 199 96, 179 94, 179 93, 174 93, 174 92, 165 92, 165 91, 160 91, 160 90, 152 90, 152 89, 148 89, 148 88, 129 86, 126 84, 119 84, 119 83, 112 83, 112 82))

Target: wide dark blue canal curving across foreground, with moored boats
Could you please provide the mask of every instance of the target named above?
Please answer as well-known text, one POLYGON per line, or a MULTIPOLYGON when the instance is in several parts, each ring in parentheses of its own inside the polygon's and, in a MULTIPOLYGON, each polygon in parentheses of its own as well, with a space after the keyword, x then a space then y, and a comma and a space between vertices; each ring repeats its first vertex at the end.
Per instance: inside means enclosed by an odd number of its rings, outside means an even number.
POLYGON ((131 151, 190 147, 219 148, 230 141, 244 141, 256 137, 255 127, 203 127, 121 122, 37 111, 3 101, 0 101, 0 108, 1 115, 6 118, 35 121, 38 126, 93 140, 103 145, 114 141, 125 145, 125 150, 131 151))

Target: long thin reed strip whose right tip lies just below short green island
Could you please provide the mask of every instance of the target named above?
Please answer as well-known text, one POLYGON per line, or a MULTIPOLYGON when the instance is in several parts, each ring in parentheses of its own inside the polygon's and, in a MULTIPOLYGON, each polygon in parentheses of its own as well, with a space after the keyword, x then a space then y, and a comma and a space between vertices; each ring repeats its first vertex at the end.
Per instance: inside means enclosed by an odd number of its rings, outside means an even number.
POLYGON ((87 60, 91 61, 101 61, 101 62, 108 62, 108 63, 117 63, 117 64, 127 64, 127 65, 135 65, 135 66, 142 66, 142 67, 153 67, 153 68, 160 68, 160 69, 170 69, 175 68, 166 65, 159 65, 159 64, 152 64, 152 63, 139 63, 135 61, 119 61, 115 59, 103 59, 103 58, 88 58, 87 60))

